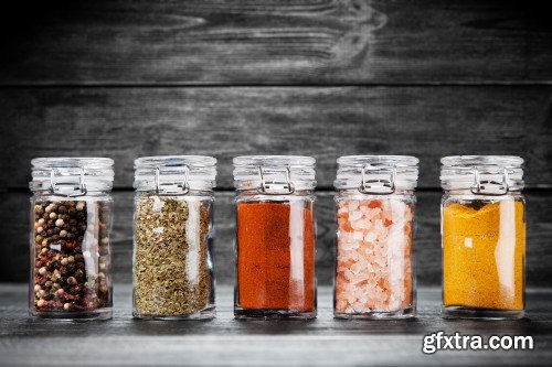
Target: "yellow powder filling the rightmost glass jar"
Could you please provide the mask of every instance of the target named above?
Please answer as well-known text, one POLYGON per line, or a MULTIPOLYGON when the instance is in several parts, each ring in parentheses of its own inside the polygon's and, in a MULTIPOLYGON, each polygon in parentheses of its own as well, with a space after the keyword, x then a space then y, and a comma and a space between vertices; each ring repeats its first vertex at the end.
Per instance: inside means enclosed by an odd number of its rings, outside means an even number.
POLYGON ((524 203, 447 203, 443 209, 445 306, 523 310, 524 203))

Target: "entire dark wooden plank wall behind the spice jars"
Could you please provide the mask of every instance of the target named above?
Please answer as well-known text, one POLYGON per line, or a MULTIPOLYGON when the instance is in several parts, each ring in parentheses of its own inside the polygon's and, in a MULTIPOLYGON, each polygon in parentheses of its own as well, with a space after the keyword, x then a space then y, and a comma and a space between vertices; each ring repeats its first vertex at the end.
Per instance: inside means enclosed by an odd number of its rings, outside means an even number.
POLYGON ((422 160, 418 281, 440 281, 438 159, 527 160, 528 284, 552 278, 552 24, 538 1, 97 0, 0 15, 0 281, 26 280, 30 159, 116 160, 116 280, 129 281, 132 160, 220 160, 216 271, 233 282, 231 159, 318 160, 331 281, 339 155, 422 160), (10 20, 8 26, 4 22, 10 20))

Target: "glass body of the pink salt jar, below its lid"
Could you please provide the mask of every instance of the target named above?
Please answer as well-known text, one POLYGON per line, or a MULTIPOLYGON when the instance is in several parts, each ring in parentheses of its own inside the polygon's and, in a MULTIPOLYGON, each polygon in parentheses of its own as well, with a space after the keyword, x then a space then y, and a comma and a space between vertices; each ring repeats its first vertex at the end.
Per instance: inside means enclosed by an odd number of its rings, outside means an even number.
POLYGON ((338 191, 336 317, 414 316, 414 206, 412 191, 389 195, 338 191))

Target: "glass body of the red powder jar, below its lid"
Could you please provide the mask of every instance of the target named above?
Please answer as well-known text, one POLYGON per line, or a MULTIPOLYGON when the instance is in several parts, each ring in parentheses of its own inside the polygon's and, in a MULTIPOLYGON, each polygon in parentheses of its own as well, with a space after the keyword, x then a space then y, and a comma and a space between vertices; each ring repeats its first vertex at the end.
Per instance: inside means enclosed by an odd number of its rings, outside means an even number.
POLYGON ((312 191, 236 198, 237 319, 314 319, 316 220, 312 191))

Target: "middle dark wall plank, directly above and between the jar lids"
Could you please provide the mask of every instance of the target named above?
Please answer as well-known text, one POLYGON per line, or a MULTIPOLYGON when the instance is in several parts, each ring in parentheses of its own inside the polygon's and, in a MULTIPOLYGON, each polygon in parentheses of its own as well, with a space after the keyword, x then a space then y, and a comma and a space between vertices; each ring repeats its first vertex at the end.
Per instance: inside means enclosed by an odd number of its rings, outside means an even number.
POLYGON ((240 154, 317 158, 330 188, 346 154, 412 154, 421 187, 439 187, 439 158, 514 154, 529 187, 551 187, 552 87, 0 88, 0 188, 26 187, 35 156, 116 161, 131 187, 134 159, 206 154, 232 188, 240 154))

